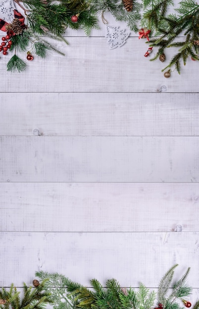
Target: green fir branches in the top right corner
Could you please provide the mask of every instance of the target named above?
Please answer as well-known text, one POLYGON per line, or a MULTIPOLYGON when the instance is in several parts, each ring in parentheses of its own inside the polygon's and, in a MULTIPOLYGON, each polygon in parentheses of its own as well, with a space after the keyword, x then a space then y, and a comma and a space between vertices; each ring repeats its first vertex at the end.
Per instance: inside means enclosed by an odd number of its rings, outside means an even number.
POLYGON ((157 47, 156 55, 151 61, 157 59, 164 53, 165 48, 177 47, 178 52, 170 60, 169 64, 162 70, 175 67, 180 74, 181 62, 186 65, 187 58, 191 56, 197 59, 199 54, 199 5, 194 0, 181 0, 175 11, 180 14, 166 15, 168 6, 173 4, 172 0, 145 1, 145 13, 142 24, 147 24, 152 32, 156 32, 158 38, 151 39, 149 46, 157 47), (148 4, 147 4, 148 3, 148 4), (150 6, 150 7, 149 7, 150 6), (186 36, 183 41, 174 42, 177 36, 186 36))

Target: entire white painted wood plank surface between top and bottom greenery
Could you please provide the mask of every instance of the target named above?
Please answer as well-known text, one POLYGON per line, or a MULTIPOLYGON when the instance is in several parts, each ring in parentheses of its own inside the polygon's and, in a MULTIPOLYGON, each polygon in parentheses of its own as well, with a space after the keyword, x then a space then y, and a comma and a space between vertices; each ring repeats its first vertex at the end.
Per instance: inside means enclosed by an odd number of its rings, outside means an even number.
POLYGON ((150 62, 134 33, 109 50, 100 25, 91 38, 67 30, 65 57, 35 57, 20 75, 0 58, 0 286, 46 270, 155 288, 178 263, 178 277, 192 268, 194 303, 198 63, 164 78, 172 50, 150 62))

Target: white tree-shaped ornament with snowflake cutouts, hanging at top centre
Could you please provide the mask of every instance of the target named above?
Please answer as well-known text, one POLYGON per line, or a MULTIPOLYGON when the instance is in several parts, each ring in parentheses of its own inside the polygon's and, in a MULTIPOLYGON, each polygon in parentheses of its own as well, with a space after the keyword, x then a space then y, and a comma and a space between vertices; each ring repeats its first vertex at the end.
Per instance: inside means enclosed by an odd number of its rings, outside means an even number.
POLYGON ((113 27, 108 25, 106 25, 106 28, 106 38, 108 38, 107 43, 110 44, 110 49, 121 47, 126 43, 126 39, 130 35, 130 32, 125 32, 126 29, 119 30, 119 27, 113 27))

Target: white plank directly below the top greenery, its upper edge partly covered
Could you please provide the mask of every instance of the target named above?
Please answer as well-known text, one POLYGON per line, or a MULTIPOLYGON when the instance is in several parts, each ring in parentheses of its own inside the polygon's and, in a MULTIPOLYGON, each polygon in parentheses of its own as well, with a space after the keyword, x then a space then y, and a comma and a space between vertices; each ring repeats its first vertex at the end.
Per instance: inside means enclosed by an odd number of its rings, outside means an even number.
MULTIPOLYGON (((1 92, 157 92, 166 85, 168 92, 199 92, 197 64, 188 59, 181 76, 176 71, 165 78, 166 67, 175 51, 167 51, 167 60, 149 61, 144 57, 146 41, 129 38, 127 43, 109 50, 105 38, 70 38, 70 45, 53 42, 66 53, 50 53, 46 59, 34 58, 20 74, 6 72, 8 57, 2 57, 4 74, 1 92), (11 80, 11 82, 10 82, 11 80), (192 80, 191 83, 188 80, 192 80)), ((154 50, 155 54, 155 50, 154 50)), ((26 60, 26 55, 19 54, 26 60)), ((19 104, 19 102, 18 102, 19 104)))

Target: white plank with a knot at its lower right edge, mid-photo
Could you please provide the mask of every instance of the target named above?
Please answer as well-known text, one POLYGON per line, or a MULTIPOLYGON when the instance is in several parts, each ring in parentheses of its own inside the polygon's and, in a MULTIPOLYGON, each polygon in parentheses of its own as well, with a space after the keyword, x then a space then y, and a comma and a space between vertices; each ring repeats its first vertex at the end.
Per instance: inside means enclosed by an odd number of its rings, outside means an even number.
POLYGON ((8 232, 199 230, 197 183, 1 183, 0 205, 8 232))

